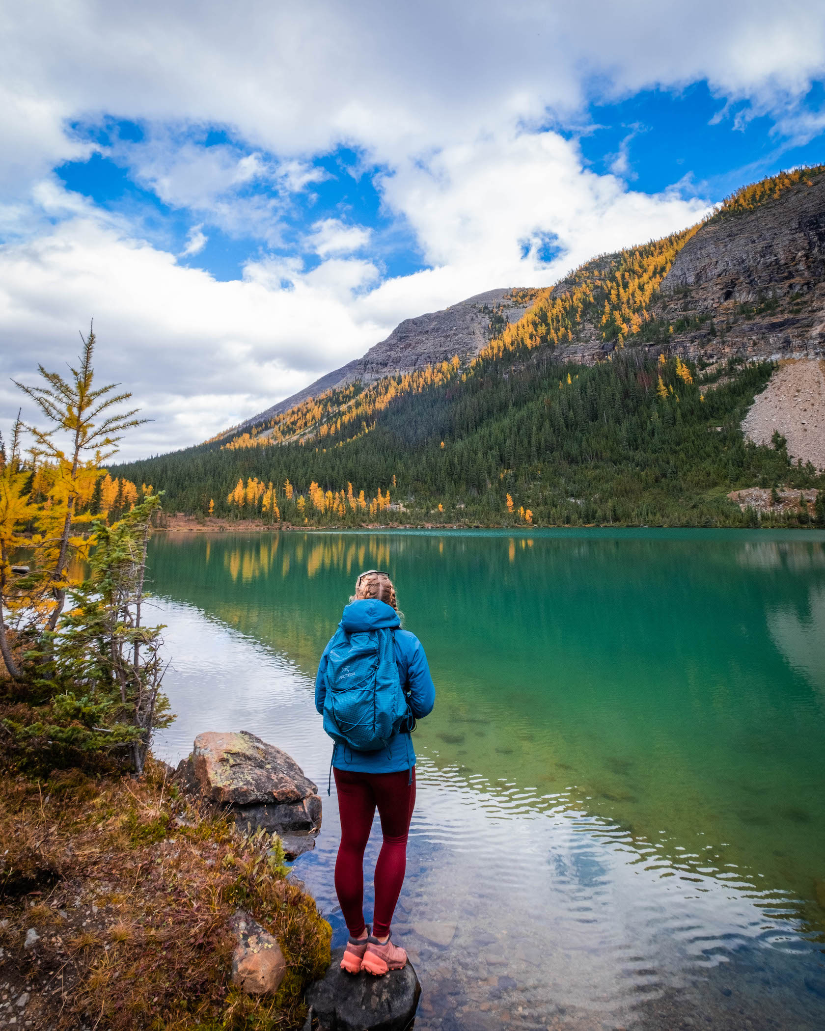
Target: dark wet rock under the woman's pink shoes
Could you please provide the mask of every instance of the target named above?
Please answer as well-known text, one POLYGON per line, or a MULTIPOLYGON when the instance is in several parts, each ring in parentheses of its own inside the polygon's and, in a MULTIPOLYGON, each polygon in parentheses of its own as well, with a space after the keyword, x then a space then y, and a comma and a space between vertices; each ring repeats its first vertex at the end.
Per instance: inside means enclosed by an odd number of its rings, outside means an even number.
POLYGON ((421 985, 407 963, 383 977, 344 973, 343 949, 332 954, 332 963, 321 980, 306 991, 310 1006, 307 1025, 316 1031, 406 1031, 416 1019, 421 985))

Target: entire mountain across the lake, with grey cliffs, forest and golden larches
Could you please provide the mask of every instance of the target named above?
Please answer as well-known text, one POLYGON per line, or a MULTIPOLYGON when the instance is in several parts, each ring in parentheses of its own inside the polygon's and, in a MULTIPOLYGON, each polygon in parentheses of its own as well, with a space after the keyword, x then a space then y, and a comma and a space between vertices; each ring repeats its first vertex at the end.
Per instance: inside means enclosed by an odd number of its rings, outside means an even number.
POLYGON ((781 173, 111 473, 227 525, 825 525, 824 244, 825 166, 781 173))

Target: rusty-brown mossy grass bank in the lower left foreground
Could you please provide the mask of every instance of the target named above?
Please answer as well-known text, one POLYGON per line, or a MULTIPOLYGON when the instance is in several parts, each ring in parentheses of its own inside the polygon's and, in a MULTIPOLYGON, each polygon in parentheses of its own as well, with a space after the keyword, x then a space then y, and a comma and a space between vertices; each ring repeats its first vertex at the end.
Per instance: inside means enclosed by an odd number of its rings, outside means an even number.
POLYGON ((329 964, 329 925, 268 855, 268 836, 199 811, 168 772, 151 762, 139 780, 0 773, 0 1025, 12 1013, 50 1031, 300 1025, 303 990, 329 964), (231 984, 238 906, 282 945, 275 997, 231 984), (39 937, 26 950, 30 928, 39 937))

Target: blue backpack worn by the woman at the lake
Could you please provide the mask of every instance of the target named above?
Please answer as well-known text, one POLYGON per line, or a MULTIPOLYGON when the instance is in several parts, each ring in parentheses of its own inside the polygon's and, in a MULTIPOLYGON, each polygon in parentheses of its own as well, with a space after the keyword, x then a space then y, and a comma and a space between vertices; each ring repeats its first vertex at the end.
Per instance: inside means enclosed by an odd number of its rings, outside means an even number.
POLYGON ((410 716, 389 629, 346 633, 338 627, 327 654, 324 730, 337 744, 377 752, 410 716))

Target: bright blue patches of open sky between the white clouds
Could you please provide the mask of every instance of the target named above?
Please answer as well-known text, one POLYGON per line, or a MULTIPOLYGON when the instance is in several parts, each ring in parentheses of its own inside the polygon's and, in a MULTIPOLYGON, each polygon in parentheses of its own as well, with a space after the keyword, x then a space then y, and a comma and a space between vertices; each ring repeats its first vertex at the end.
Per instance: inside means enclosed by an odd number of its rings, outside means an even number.
MULTIPOLYGON (((813 84, 802 104, 814 112, 822 108, 821 84, 813 84)), ((646 194, 676 190, 711 203, 783 168, 825 161, 823 133, 795 143, 777 132, 767 114, 738 123, 746 106, 740 101, 728 107, 701 81, 673 91, 644 90, 618 103, 590 103, 567 124, 557 122, 552 128, 573 141, 584 166, 599 174, 615 174, 646 194)), ((308 167, 318 177, 291 195, 280 219, 282 238, 273 244, 243 229, 227 231, 211 224, 208 213, 193 218, 189 207, 165 202, 143 185, 130 168, 128 146, 145 141, 151 129, 143 125, 103 115, 95 125, 73 125, 70 131, 96 148, 82 160, 55 168, 66 189, 96 206, 139 220, 147 238, 216 279, 241 278, 244 265, 267 253, 299 256, 305 269, 317 267, 321 258, 306 238, 315 224, 330 219, 371 230, 370 256, 385 277, 428 267, 403 217, 383 207, 381 180, 392 174, 391 169, 370 162, 363 151, 339 145, 312 157, 308 167), (187 255, 193 231, 200 232, 204 242, 187 255)), ((228 148, 238 158, 257 153, 226 128, 199 126, 185 138, 204 152, 228 148)), ((274 154, 266 157, 277 160, 274 154)), ((237 199, 270 202, 277 202, 279 195, 277 186, 265 179, 253 180, 235 193, 237 199)), ((522 250, 529 252, 529 241, 522 250)), ((551 264, 560 252, 556 235, 546 231, 536 251, 542 263, 551 264)))

